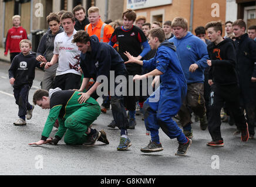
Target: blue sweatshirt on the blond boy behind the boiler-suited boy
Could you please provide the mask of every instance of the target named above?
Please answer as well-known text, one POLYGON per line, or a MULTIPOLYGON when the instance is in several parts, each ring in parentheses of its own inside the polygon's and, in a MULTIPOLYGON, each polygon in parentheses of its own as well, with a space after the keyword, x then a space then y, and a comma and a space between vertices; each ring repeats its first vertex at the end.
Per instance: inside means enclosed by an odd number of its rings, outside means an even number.
POLYGON ((180 60, 181 67, 187 79, 187 84, 204 82, 204 69, 208 67, 206 61, 208 59, 208 52, 206 43, 188 32, 186 36, 177 39, 176 36, 169 40, 177 47, 178 60, 180 60), (191 64, 196 63, 198 68, 195 72, 190 72, 191 64))

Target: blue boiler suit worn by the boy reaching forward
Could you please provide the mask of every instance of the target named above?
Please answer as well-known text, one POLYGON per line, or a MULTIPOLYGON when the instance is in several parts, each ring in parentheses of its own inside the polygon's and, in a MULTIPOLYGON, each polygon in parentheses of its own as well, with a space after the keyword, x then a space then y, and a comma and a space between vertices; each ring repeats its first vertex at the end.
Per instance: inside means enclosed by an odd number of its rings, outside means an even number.
POLYGON ((177 123, 171 118, 180 110, 183 98, 187 93, 187 82, 176 54, 176 47, 169 41, 164 41, 157 49, 156 56, 146 61, 143 68, 157 69, 161 84, 150 95, 143 105, 144 122, 150 131, 151 141, 159 142, 159 128, 170 138, 177 138, 180 143, 186 143, 187 138, 177 123))

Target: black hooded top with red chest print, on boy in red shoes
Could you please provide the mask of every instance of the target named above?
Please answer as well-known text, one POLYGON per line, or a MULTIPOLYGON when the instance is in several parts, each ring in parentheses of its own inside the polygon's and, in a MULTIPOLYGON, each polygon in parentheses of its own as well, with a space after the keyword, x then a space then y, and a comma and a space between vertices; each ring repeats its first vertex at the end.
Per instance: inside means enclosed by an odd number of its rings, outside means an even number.
POLYGON ((237 84, 234 41, 225 39, 217 46, 212 42, 207 50, 211 60, 209 79, 213 79, 214 84, 218 85, 237 84))

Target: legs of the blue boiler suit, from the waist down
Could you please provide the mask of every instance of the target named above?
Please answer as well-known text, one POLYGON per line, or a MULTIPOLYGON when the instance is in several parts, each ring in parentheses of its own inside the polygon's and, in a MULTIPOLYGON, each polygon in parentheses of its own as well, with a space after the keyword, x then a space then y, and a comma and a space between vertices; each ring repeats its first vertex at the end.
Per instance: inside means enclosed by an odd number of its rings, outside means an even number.
POLYGON ((187 142, 182 130, 172 119, 177 115, 181 105, 181 93, 176 91, 159 87, 144 102, 144 123, 146 130, 150 131, 151 141, 159 142, 159 128, 161 127, 171 139, 177 138, 180 143, 187 142))

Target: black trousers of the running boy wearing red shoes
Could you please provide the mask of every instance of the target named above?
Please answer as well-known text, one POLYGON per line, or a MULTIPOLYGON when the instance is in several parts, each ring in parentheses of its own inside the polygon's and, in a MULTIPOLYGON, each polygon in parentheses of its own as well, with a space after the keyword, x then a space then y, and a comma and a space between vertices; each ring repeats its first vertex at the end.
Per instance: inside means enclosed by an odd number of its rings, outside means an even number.
POLYGON ((237 85, 211 85, 208 130, 213 140, 223 140, 220 131, 220 112, 224 102, 234 116, 237 129, 245 130, 246 122, 243 110, 240 108, 239 98, 239 88, 237 85))

